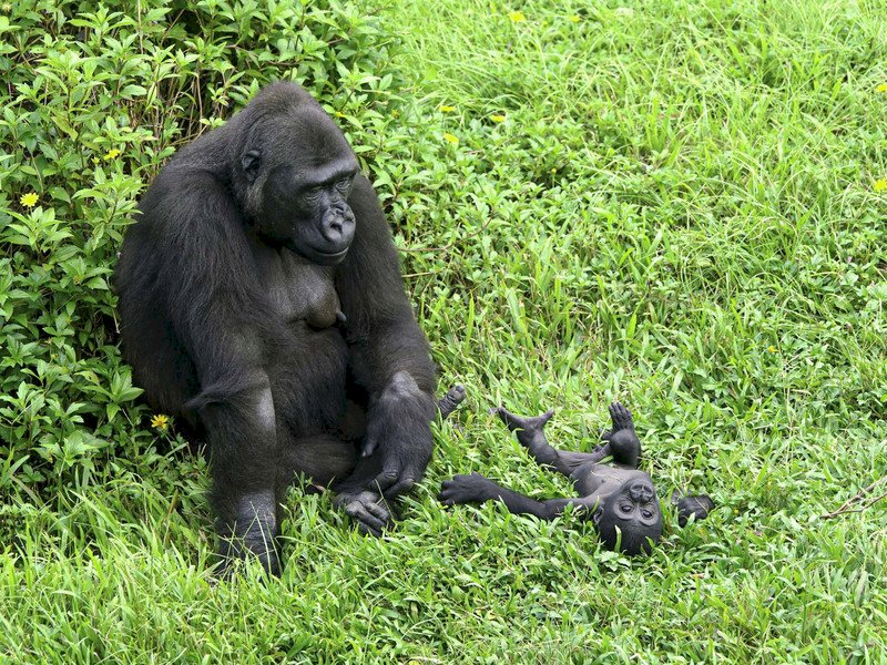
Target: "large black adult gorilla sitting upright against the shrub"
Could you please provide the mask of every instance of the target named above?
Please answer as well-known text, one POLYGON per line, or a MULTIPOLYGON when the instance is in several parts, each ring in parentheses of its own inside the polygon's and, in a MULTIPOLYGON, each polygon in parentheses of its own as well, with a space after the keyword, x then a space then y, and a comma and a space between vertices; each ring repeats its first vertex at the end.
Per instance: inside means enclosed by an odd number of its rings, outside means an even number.
POLYGON ((279 571, 295 474, 379 534, 431 457, 434 366, 376 193, 299 85, 275 83, 161 171, 114 278, 152 406, 210 444, 225 557, 279 571))

